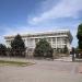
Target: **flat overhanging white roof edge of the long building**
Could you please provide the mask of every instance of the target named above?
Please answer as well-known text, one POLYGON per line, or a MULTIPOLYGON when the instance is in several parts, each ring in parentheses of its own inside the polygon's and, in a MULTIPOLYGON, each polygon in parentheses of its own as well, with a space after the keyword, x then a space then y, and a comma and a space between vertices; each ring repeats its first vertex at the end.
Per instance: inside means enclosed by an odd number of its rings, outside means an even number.
MULTIPOLYGON (((68 35, 70 35, 72 37, 69 30, 57 30, 57 31, 52 31, 52 32, 39 32, 39 33, 22 34, 21 36, 22 37, 35 37, 35 36, 44 36, 44 35, 56 35, 59 33, 63 33, 63 34, 67 33, 68 35)), ((5 39, 14 38, 14 37, 15 37, 15 35, 4 36, 5 39)))

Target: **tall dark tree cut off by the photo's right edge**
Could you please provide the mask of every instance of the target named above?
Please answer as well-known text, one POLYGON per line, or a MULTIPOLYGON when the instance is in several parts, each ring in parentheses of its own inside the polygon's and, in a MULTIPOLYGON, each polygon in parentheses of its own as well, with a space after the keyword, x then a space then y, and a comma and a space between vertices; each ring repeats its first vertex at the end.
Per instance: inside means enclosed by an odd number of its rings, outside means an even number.
POLYGON ((77 38, 79 39, 78 42, 79 49, 82 49, 82 24, 78 26, 77 38))

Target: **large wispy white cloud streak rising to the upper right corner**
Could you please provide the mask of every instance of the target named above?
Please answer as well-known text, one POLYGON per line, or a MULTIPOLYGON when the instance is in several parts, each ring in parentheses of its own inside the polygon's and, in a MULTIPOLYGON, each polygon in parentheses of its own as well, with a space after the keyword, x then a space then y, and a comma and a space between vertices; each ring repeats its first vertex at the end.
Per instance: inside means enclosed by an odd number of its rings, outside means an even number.
POLYGON ((37 24, 45 20, 57 17, 75 19, 79 16, 79 11, 82 11, 82 0, 60 0, 57 5, 54 5, 51 9, 40 13, 39 16, 30 19, 30 23, 37 24))

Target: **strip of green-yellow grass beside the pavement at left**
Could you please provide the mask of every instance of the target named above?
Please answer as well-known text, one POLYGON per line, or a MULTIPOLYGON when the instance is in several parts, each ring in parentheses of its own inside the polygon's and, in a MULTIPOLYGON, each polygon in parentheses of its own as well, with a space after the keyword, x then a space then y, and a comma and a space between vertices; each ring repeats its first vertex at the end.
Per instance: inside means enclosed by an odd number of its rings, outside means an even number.
POLYGON ((9 61, 9 60, 0 60, 0 66, 31 66, 34 65, 32 62, 24 62, 24 61, 9 61))

